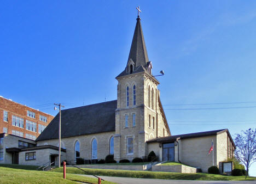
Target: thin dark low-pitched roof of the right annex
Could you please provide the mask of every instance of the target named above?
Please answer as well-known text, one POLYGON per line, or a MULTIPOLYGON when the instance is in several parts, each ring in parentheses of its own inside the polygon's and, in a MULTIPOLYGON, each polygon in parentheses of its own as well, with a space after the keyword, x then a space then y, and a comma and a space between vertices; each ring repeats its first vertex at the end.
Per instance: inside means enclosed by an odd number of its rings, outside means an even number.
POLYGON ((207 131, 207 132, 196 132, 196 133, 187 133, 187 134, 179 134, 176 136, 168 136, 168 137, 159 137, 155 139, 148 140, 147 143, 167 143, 167 142, 174 142, 177 138, 181 139, 189 139, 189 138, 196 138, 196 137, 205 137, 205 136, 214 136, 223 132, 227 132, 228 136, 234 145, 234 148, 236 149, 236 145, 229 133, 228 129, 221 129, 221 130, 213 130, 213 131, 207 131))

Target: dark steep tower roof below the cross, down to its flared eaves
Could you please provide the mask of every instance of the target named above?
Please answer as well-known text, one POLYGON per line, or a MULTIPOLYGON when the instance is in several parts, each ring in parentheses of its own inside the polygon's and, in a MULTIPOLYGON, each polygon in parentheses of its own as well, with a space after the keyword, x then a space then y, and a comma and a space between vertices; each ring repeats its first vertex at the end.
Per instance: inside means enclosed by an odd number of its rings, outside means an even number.
MULTIPOLYGON (((146 48, 146 44, 145 44, 145 40, 142 32, 141 19, 139 17, 137 18, 136 27, 134 30, 131 49, 130 49, 129 57, 127 60, 127 65, 130 62, 130 60, 132 60, 132 62, 135 63, 132 73, 138 73, 143 71, 148 72, 147 70, 147 63, 149 62, 148 52, 147 52, 147 48, 146 48)), ((130 74, 130 72, 127 70, 127 65, 125 70, 121 72, 117 77, 130 74)))

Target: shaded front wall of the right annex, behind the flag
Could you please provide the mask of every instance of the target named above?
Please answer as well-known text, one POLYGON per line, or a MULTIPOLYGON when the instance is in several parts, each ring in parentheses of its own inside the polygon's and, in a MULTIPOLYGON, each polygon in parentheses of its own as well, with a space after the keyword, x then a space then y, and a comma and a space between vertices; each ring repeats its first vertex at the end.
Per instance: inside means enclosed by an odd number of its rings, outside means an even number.
MULTIPOLYGON (((179 160, 192 167, 199 167, 203 172, 207 172, 208 168, 212 166, 212 152, 208 155, 208 151, 214 144, 214 165, 217 165, 216 149, 217 136, 198 137, 191 139, 181 139, 179 142, 180 155, 179 160)), ((175 146, 177 149, 177 146, 175 146)))

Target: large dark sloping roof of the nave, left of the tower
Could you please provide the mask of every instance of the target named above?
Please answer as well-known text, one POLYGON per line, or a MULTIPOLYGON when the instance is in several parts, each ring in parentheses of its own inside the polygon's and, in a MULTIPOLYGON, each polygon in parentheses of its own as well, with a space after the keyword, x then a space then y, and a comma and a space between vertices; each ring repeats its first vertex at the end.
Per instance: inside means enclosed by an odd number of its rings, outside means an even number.
MULTIPOLYGON (((61 138, 115 131, 117 100, 61 111, 61 138)), ((59 113, 36 139, 59 138, 59 113)))

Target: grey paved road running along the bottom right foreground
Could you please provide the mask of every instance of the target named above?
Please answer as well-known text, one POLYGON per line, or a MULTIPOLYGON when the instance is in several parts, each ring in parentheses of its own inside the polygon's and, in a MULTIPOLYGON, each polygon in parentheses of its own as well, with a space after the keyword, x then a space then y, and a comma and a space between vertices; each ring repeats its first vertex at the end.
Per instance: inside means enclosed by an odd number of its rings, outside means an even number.
MULTIPOLYGON (((82 175, 82 174, 81 174, 82 175)), ((94 177, 92 175, 83 175, 87 177, 94 177)), ((102 179, 107 181, 112 181, 115 183, 121 183, 121 184, 131 184, 131 183, 137 183, 137 184, 153 184, 153 183, 161 183, 161 184, 194 184, 194 183, 207 183, 207 184, 227 184, 227 183, 235 183, 235 184, 253 184, 256 183, 256 181, 194 181, 194 180, 161 180, 161 179, 142 179, 142 178, 133 178, 133 177, 112 177, 112 176, 100 176, 102 179)), ((95 178, 95 177, 94 177, 95 178)))

